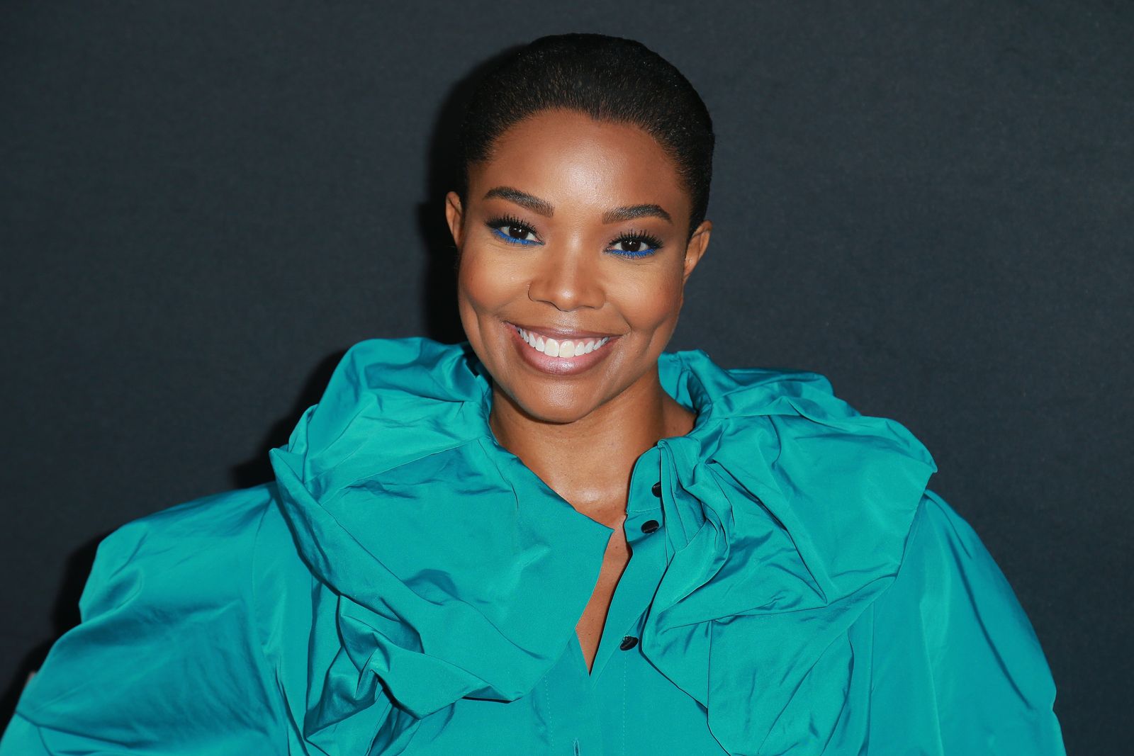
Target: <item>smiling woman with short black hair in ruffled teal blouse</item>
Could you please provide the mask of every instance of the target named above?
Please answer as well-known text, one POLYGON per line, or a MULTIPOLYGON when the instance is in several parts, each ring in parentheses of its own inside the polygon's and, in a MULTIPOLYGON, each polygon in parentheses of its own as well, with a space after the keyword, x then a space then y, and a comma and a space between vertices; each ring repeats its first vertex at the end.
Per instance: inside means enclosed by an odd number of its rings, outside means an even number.
POLYGON ((642 45, 489 75, 468 343, 366 341, 277 481, 132 523, 15 754, 1060 754, 1010 588, 905 428, 663 354, 709 114, 642 45))

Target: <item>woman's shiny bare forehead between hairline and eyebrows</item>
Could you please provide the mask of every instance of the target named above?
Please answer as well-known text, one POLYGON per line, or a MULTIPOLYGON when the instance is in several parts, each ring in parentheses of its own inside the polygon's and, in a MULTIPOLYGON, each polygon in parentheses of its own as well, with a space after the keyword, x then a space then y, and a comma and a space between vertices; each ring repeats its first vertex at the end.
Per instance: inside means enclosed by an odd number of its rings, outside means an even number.
POLYGON ((575 111, 542 111, 501 134, 488 160, 469 167, 474 198, 494 186, 556 206, 652 203, 674 218, 689 207, 674 161, 657 139, 637 126, 575 111))

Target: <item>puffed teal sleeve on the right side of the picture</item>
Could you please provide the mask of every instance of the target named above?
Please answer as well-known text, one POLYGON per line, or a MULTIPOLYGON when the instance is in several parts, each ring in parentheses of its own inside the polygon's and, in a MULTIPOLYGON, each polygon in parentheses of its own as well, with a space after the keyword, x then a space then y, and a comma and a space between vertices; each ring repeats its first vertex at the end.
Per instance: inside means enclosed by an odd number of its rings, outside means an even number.
POLYGON ((926 492, 874 608, 870 753, 1063 756, 1035 632, 980 538, 926 492))

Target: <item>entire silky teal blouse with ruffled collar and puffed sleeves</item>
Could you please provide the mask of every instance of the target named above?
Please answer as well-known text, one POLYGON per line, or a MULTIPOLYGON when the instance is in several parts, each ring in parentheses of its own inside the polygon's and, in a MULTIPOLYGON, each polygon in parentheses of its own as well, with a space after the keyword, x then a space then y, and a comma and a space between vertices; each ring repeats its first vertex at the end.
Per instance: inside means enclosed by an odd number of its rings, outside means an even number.
POLYGON ((372 340, 273 483, 100 545, 0 755, 1064 753, 1027 618, 921 443, 815 374, 659 368, 697 421, 635 465, 590 674, 611 530, 496 442, 467 346, 372 340))

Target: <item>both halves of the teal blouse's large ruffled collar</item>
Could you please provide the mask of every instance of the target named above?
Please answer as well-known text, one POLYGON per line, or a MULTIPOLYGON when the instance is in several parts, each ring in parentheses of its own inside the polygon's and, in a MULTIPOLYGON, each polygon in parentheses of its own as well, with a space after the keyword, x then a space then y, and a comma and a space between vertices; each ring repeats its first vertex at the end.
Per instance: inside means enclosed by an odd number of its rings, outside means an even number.
MULTIPOLYGON (((822 376, 723 371, 701 351, 662 355, 659 373, 697 421, 659 442, 668 567, 642 649, 729 753, 784 753, 833 729, 838 711, 797 694, 892 581, 936 467, 822 376)), ((312 630, 337 651, 311 660, 304 722, 328 753, 393 742, 462 697, 516 699, 575 631, 610 529, 496 442, 490 406, 467 345, 364 341, 271 452, 333 617, 312 630)))

